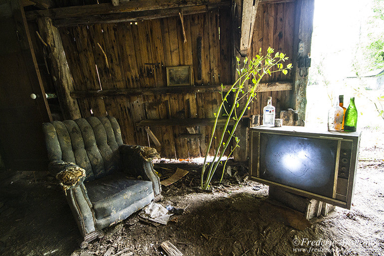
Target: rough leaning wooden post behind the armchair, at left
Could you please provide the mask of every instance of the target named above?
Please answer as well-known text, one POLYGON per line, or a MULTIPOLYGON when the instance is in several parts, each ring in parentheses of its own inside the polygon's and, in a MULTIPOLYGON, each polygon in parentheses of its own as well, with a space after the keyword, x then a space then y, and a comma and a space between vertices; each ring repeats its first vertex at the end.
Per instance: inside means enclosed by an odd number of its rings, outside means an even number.
POLYGON ((51 55, 51 74, 56 88, 57 97, 64 119, 81 117, 76 99, 72 99, 73 82, 68 67, 59 30, 52 24, 52 19, 42 17, 37 20, 40 35, 48 44, 51 55))

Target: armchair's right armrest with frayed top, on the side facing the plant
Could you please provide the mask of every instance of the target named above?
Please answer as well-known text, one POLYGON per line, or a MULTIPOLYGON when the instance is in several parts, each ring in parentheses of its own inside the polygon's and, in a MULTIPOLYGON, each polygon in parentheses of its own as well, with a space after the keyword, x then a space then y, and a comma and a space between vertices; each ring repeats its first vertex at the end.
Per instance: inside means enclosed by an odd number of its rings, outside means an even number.
POLYGON ((152 181, 155 197, 161 194, 160 178, 153 169, 152 160, 160 158, 154 148, 121 145, 119 147, 123 163, 123 171, 134 177, 141 176, 143 180, 152 181))

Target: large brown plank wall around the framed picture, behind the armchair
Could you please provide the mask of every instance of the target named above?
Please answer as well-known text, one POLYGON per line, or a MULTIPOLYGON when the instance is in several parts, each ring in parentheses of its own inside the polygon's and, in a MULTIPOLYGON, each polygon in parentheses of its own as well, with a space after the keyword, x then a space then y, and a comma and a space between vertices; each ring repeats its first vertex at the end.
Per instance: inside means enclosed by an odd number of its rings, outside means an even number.
MULTIPOLYGON (((75 90, 164 87, 167 86, 166 67, 178 65, 192 65, 196 86, 229 84, 229 16, 229 9, 184 16, 187 42, 184 42, 180 17, 62 27, 60 34, 75 90)), ((115 116, 122 128, 124 143, 150 143, 152 147, 154 143, 144 129, 136 126, 137 122, 213 117, 220 101, 221 95, 217 92, 78 99, 83 117, 115 116)), ((180 138, 180 134, 187 133, 186 128, 151 128, 161 142, 157 150, 162 157, 205 154, 203 144, 212 128, 193 127, 203 135, 202 145, 197 139, 180 138)))

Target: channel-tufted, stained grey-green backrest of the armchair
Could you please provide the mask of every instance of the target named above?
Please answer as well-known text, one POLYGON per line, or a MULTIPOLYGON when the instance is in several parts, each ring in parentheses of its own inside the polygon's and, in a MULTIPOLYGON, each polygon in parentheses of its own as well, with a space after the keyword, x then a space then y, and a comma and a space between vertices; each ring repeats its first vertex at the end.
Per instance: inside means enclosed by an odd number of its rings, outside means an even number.
POLYGON ((77 164, 86 171, 85 181, 119 168, 123 141, 120 126, 112 116, 43 123, 43 131, 49 160, 77 164))

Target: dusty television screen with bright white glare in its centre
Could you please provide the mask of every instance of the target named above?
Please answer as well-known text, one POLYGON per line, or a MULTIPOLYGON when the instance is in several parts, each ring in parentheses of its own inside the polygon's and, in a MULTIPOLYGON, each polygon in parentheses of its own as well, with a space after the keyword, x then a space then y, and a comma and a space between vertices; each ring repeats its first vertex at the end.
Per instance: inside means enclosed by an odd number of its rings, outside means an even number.
POLYGON ((260 178, 332 198, 337 144, 261 133, 260 178))

